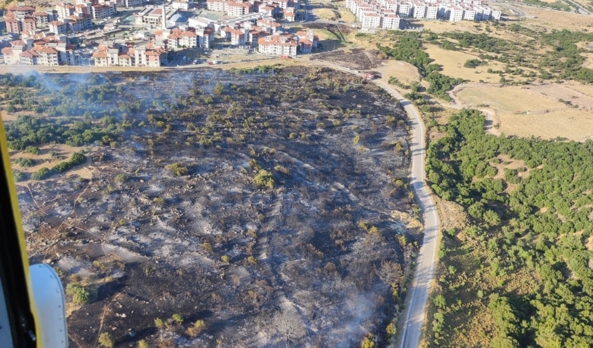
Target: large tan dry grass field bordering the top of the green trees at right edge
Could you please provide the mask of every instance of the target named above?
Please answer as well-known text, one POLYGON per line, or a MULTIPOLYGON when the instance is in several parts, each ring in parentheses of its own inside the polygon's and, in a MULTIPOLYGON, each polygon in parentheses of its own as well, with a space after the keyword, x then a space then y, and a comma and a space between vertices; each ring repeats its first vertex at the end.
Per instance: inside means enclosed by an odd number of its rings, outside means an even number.
MULTIPOLYGON (((557 91, 568 91, 557 88, 557 91)), ((546 91, 550 92, 550 91, 546 91)), ((562 137, 575 141, 593 139, 593 112, 567 107, 556 97, 520 87, 465 88, 457 98, 470 107, 489 105, 495 110, 499 131, 507 135, 562 137)), ((581 96, 583 101, 587 100, 581 96)))

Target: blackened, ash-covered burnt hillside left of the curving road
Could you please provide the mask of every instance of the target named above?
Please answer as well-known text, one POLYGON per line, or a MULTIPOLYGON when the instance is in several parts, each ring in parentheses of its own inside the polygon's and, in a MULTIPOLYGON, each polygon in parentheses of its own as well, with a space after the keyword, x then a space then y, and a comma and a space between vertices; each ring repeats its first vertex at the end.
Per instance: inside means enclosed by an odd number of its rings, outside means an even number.
POLYGON ((141 107, 117 115, 131 126, 112 147, 87 148, 92 179, 18 188, 32 263, 90 289, 70 305, 70 347, 103 332, 116 347, 387 340, 419 239, 398 219, 413 201, 405 114, 389 96, 324 68, 101 78, 141 107), (273 187, 256 184, 260 170, 273 187))

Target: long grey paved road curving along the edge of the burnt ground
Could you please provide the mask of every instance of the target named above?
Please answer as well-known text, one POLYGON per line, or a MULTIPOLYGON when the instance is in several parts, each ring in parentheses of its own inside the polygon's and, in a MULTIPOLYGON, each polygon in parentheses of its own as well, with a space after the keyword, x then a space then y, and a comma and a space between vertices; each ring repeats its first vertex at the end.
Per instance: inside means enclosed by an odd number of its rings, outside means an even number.
MULTIPOLYGON (((310 61, 310 63, 327 65, 343 72, 365 76, 361 72, 356 72, 332 63, 322 61, 310 61)), ((408 294, 411 294, 411 297, 409 301, 406 301, 408 306, 405 309, 405 323, 400 347, 416 348, 420 344, 426 316, 426 303, 428 302, 430 285, 434 276, 436 242, 439 236, 439 215, 436 214, 436 207, 434 207, 434 203, 428 194, 425 183, 425 134, 422 119, 410 101, 403 99, 403 96, 388 85, 388 83, 381 80, 374 80, 373 82, 400 101, 403 109, 408 113, 412 125, 412 143, 410 145, 410 150, 412 150, 412 189, 416 193, 416 202, 420 205, 423 213, 424 240, 420 247, 420 254, 416 260, 414 282, 412 283, 412 287, 408 289, 408 294)))

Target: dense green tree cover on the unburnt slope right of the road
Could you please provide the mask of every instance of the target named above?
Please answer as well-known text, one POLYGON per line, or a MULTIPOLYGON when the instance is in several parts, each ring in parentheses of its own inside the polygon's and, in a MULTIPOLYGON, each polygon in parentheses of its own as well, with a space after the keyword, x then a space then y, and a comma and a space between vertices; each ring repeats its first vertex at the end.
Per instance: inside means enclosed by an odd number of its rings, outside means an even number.
POLYGON ((528 294, 503 283, 487 289, 497 328, 491 346, 593 347, 593 252, 585 247, 593 236, 593 141, 496 137, 483 123, 478 111, 463 110, 439 126, 445 136, 430 143, 427 171, 434 192, 474 219, 465 233, 483 245, 485 271, 525 272, 534 283, 528 294), (494 178, 501 155, 526 167, 494 178))

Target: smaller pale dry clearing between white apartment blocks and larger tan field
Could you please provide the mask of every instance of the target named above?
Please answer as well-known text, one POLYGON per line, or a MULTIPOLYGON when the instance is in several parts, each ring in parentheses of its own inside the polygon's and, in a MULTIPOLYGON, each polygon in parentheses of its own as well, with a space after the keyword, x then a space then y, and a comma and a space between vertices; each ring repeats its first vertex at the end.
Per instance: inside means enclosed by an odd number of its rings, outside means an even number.
MULTIPOLYGON (((504 70, 504 64, 496 61, 491 61, 488 65, 482 65, 478 68, 464 68, 463 64, 470 59, 479 59, 477 54, 469 54, 463 51, 444 50, 437 45, 425 45, 425 51, 434 63, 442 66, 443 74, 456 77, 459 79, 477 82, 483 80, 485 82, 499 82, 501 79, 498 74, 489 74, 488 69, 504 70)), ((514 79, 516 76, 512 76, 514 79)))

